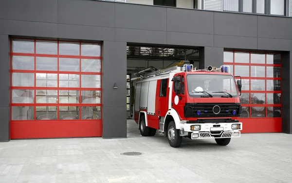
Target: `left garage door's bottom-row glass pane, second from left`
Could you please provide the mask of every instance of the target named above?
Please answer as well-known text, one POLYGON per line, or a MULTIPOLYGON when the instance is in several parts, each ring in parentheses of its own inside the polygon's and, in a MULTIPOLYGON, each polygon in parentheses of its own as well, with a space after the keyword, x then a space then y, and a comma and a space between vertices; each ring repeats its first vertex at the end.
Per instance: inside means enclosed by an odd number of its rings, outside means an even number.
POLYGON ((37 120, 57 119, 56 106, 36 106, 37 120))

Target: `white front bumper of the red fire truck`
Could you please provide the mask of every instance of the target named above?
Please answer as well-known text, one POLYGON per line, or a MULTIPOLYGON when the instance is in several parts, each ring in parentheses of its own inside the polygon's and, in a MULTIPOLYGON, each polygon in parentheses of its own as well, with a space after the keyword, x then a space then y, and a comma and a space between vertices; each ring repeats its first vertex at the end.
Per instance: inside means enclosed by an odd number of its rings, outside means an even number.
POLYGON ((242 123, 234 120, 232 123, 181 123, 180 136, 189 136, 191 139, 235 138, 240 137, 242 123), (239 129, 232 129, 233 124, 240 124, 239 129), (200 130, 191 130, 192 125, 200 125, 200 130))

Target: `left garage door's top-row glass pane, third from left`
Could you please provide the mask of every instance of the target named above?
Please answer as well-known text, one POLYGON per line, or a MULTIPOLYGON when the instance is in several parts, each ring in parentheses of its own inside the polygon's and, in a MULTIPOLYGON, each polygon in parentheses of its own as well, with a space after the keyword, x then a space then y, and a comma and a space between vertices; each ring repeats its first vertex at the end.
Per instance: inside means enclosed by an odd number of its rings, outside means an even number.
POLYGON ((71 42, 59 42, 60 55, 80 55, 80 44, 71 42))

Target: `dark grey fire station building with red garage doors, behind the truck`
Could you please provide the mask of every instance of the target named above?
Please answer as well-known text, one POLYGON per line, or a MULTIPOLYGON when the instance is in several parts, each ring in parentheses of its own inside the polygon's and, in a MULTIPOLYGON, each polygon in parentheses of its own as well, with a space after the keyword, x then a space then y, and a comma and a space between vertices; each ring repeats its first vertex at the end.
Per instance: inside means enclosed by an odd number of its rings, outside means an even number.
POLYGON ((0 141, 127 137, 129 79, 182 61, 241 76, 242 133, 292 133, 291 16, 292 0, 1 0, 0 141))

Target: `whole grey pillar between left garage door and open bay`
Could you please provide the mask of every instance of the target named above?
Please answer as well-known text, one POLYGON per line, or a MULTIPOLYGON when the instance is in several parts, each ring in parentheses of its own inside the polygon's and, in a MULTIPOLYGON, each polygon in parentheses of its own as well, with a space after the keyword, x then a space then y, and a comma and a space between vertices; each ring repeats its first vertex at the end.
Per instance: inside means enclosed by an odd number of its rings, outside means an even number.
POLYGON ((126 42, 104 42, 102 70, 102 136, 104 138, 127 137, 126 42), (113 89, 114 83, 117 84, 118 89, 113 89))

